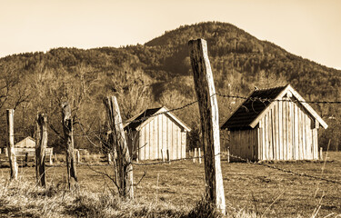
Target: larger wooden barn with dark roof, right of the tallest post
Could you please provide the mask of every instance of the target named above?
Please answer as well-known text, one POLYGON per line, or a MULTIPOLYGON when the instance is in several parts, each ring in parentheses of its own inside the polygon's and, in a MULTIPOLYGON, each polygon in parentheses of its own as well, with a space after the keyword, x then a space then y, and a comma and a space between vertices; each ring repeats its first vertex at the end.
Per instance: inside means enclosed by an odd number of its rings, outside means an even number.
POLYGON ((252 161, 317 160, 317 130, 326 122, 290 85, 255 90, 221 126, 231 154, 252 161), (275 99, 262 101, 259 99, 275 99))

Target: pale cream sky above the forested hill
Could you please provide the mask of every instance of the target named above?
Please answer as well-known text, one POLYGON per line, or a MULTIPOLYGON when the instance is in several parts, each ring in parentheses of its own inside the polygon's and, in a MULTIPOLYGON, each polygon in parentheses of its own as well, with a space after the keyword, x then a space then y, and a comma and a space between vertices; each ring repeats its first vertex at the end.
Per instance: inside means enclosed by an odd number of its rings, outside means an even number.
POLYGON ((338 0, 0 0, 0 57, 145 44, 180 25, 226 22, 341 69, 338 0))

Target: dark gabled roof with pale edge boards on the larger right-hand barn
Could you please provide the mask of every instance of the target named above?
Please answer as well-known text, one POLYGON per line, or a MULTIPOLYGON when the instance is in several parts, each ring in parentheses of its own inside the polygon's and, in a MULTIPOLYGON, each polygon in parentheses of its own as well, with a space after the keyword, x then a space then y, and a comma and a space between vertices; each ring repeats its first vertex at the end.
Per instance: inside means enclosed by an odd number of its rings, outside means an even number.
POLYGON ((316 111, 306 103, 305 99, 298 94, 290 84, 286 84, 285 86, 275 88, 255 90, 227 119, 226 123, 223 124, 221 128, 255 128, 256 124, 259 123, 260 119, 263 118, 271 106, 276 104, 276 100, 282 100, 283 96, 289 92, 296 98, 299 104, 306 108, 306 111, 314 117, 319 124, 325 129, 328 127, 326 122, 316 113, 316 111), (255 99, 272 99, 275 101, 270 102, 255 99))

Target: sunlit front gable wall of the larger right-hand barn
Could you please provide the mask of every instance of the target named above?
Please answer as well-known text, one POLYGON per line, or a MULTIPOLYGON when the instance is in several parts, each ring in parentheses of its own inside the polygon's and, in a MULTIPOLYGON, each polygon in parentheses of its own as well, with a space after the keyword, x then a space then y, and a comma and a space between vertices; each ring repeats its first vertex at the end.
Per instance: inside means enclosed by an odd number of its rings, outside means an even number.
POLYGON ((316 123, 300 104, 276 102, 256 127, 258 160, 316 160, 316 123))

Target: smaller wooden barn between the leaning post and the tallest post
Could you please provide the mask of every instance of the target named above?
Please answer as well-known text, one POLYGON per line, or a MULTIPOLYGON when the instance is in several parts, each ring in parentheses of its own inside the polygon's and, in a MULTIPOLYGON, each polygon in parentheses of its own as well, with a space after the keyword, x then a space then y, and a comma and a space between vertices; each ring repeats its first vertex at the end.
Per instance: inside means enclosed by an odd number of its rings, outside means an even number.
POLYGON ((186 158, 186 134, 191 129, 163 107, 147 109, 130 119, 125 126, 130 153, 134 159, 171 160, 186 158))

